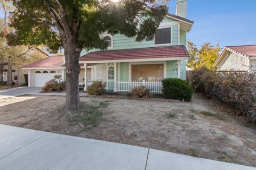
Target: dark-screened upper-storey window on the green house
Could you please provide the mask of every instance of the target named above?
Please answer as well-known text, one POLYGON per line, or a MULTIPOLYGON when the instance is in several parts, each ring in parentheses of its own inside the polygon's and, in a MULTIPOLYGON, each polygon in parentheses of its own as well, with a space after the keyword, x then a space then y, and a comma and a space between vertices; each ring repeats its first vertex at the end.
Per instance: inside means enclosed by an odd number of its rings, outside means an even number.
POLYGON ((155 33, 155 45, 171 44, 171 27, 157 29, 155 33))

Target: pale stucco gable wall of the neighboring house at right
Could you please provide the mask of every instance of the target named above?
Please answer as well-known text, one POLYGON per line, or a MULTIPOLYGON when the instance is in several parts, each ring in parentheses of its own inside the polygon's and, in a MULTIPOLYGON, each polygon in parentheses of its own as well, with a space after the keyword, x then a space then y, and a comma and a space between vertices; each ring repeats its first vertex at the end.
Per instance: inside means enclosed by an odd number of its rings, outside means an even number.
POLYGON ((226 52, 218 65, 218 70, 239 70, 247 71, 249 69, 249 58, 243 57, 233 52, 226 52))

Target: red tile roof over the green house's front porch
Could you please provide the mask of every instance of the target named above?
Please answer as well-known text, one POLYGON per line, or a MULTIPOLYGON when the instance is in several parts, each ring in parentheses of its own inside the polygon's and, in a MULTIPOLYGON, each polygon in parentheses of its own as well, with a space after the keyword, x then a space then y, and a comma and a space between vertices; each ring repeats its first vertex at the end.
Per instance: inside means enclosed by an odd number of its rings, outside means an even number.
POLYGON ((149 47, 91 52, 79 61, 131 60, 142 58, 189 57, 185 46, 149 47))

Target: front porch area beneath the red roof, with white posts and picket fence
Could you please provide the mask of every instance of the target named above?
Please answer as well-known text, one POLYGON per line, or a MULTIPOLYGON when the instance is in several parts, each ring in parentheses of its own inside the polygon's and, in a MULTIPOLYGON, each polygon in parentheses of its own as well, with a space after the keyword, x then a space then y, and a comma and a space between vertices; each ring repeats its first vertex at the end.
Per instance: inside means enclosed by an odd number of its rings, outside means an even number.
POLYGON ((114 92, 130 92, 135 87, 146 86, 152 93, 161 94, 164 78, 182 78, 181 63, 181 60, 85 63, 84 90, 93 81, 103 81, 107 82, 106 90, 114 92))

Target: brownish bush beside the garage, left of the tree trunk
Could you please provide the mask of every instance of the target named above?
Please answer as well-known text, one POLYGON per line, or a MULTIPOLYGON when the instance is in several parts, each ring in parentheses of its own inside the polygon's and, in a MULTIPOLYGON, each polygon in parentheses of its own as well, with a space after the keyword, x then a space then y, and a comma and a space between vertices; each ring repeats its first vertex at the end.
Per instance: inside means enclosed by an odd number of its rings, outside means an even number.
POLYGON ((61 81, 61 75, 54 75, 53 79, 47 81, 42 92, 65 91, 66 84, 61 81))

